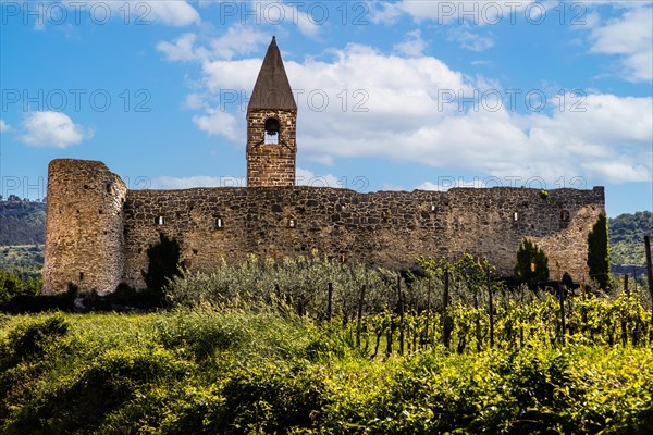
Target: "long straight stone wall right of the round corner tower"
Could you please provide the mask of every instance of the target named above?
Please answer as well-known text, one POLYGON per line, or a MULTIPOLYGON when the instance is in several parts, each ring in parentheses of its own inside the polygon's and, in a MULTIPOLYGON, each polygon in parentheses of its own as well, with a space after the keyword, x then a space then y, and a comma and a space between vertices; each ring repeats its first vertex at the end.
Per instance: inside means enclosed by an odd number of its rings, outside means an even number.
POLYGON ((347 189, 211 188, 131 190, 125 204, 123 281, 140 287, 147 249, 163 233, 181 243, 190 270, 211 271, 248 254, 322 254, 389 268, 418 257, 488 257, 513 273, 523 237, 550 257, 552 277, 587 278, 587 234, 604 212, 603 188, 490 188, 358 194, 347 189), (557 269, 556 269, 557 268, 557 269))

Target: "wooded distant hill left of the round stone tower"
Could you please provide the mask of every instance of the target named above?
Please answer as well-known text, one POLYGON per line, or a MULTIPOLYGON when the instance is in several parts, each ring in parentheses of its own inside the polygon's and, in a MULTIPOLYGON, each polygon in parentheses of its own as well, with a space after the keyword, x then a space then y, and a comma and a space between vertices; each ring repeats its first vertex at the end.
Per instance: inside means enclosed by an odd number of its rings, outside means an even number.
POLYGON ((0 246, 42 245, 46 240, 46 204, 16 198, 0 201, 0 246))

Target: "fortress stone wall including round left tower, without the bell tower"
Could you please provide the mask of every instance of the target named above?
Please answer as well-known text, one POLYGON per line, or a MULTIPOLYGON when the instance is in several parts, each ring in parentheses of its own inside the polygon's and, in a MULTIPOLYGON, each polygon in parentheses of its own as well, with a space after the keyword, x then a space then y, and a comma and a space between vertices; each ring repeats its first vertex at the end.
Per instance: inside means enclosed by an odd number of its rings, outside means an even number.
POLYGON ((587 276, 587 236, 604 191, 455 188, 358 194, 319 187, 128 190, 100 162, 56 160, 48 182, 45 288, 111 291, 145 285, 147 249, 176 238, 181 261, 211 271, 247 256, 322 254, 405 268, 418 257, 488 257, 512 274, 523 237, 549 256, 551 275, 587 276), (125 201, 123 203, 123 196, 125 201))

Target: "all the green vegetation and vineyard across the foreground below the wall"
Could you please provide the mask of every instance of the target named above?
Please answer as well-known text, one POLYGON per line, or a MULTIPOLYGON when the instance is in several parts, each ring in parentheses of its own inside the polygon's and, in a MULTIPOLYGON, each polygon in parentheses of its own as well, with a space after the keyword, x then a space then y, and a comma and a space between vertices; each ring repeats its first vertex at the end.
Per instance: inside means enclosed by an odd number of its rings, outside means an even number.
POLYGON ((643 288, 419 265, 251 259, 158 312, 0 314, 0 433, 650 433, 643 288))

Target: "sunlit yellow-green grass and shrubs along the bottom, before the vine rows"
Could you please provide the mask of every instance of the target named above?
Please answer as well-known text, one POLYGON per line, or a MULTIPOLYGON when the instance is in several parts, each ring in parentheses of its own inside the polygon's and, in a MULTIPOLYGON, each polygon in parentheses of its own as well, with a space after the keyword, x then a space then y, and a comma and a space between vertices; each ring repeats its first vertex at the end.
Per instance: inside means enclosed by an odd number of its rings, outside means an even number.
POLYGON ((269 309, 0 316, 2 434, 643 434, 653 352, 370 359, 269 309))

